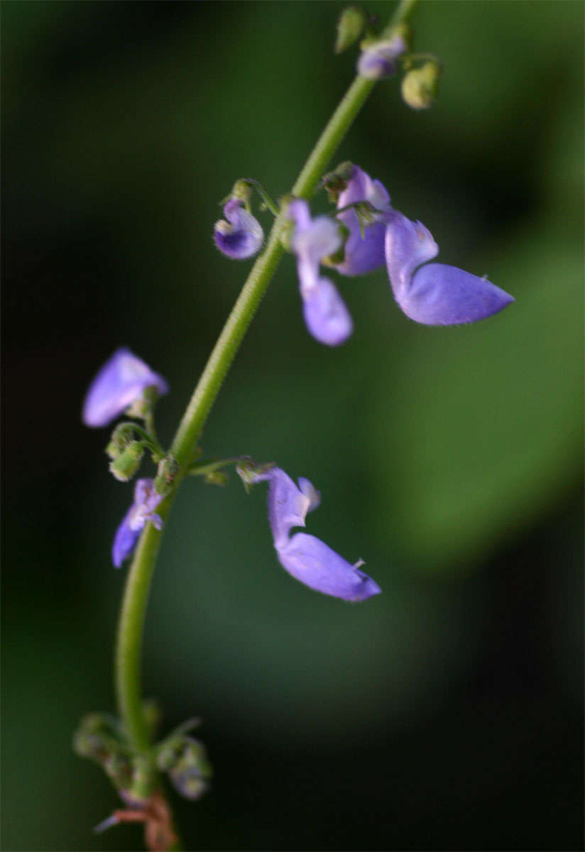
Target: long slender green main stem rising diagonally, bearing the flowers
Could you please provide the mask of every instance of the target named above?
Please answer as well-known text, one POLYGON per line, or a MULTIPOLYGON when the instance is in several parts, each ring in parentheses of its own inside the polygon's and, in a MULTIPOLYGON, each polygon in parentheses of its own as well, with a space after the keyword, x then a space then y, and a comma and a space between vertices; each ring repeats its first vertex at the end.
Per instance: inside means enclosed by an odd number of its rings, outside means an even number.
MULTIPOLYGON (((401 0, 389 28, 404 22, 412 13, 416 3, 417 0, 401 0)), ((374 85, 373 80, 356 77, 347 89, 292 188, 292 193, 296 197, 310 198, 374 85)), ((159 515, 163 520, 168 515, 177 487, 192 461, 198 437, 221 384, 272 275, 278 267, 278 262, 284 254, 280 241, 284 225, 283 216, 278 216, 268 237, 267 247, 252 267, 181 419, 170 450, 171 455, 179 463, 180 472, 175 480, 173 491, 159 507, 159 515)), ((116 653, 118 706, 131 744, 141 751, 145 751, 151 745, 142 713, 141 642, 146 603, 161 534, 152 527, 152 524, 147 524, 141 535, 129 570, 118 626, 116 653)))

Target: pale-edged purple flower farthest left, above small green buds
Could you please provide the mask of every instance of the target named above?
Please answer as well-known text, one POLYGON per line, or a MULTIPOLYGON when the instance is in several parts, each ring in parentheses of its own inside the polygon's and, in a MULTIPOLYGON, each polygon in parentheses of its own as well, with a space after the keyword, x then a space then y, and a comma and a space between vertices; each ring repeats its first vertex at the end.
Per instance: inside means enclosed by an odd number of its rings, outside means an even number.
POLYGON ((118 349, 89 386, 83 403, 83 423, 86 426, 106 426, 150 387, 155 387, 159 394, 166 394, 169 390, 163 377, 152 372, 129 348, 118 349))

